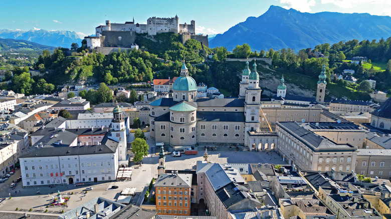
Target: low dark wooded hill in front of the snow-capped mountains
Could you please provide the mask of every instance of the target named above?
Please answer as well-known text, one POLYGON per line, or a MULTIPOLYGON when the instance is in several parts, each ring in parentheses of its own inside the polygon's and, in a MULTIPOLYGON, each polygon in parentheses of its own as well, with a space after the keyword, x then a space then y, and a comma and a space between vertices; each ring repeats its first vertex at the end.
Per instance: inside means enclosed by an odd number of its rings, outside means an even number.
POLYGON ((54 50, 54 46, 42 45, 23 39, 2 39, 0 38, 0 50, 54 50))

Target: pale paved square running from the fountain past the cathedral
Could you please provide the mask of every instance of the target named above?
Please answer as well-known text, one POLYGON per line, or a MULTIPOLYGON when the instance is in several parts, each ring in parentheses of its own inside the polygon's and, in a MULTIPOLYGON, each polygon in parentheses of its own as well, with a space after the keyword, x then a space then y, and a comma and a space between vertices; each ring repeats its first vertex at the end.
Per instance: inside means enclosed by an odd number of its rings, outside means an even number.
MULTIPOLYGON (((150 145, 150 151, 155 152, 155 142, 149 139, 148 133, 148 144, 150 145)), ((129 136, 130 140, 132 136, 129 136)), ((212 146, 212 145, 211 145, 212 146)), ((157 150, 158 152, 158 150, 157 150)), ((195 164, 198 160, 204 160, 203 155, 205 153, 204 145, 198 147, 197 155, 182 155, 180 157, 173 157, 171 154, 166 155, 166 169, 195 169, 195 164)), ((282 161, 282 158, 276 152, 266 151, 248 151, 244 147, 240 147, 239 151, 233 147, 229 150, 229 146, 217 146, 217 151, 208 151, 210 162, 220 163, 276 163, 282 164, 286 162, 282 161)), ((59 212, 60 210, 72 209, 85 203, 98 196, 116 200, 125 187, 135 187, 136 192, 140 193, 145 185, 149 184, 152 177, 157 177, 157 164, 158 155, 151 154, 145 157, 142 161, 142 165, 139 168, 133 168, 132 179, 128 181, 115 181, 115 182, 104 182, 104 183, 92 183, 91 185, 84 185, 75 187, 74 185, 56 185, 54 188, 49 186, 33 186, 33 187, 22 187, 22 182, 17 184, 16 189, 12 190, 10 184, 12 180, 16 180, 21 174, 20 169, 12 175, 5 183, 0 184, 0 197, 6 197, 4 201, 0 203, 0 209, 2 210, 15 210, 19 209, 29 210, 32 208, 34 211, 45 211, 59 212), (152 156, 151 156, 152 155, 152 156), (112 185, 118 185, 119 188, 111 189, 112 185), (85 194, 85 188, 92 186, 93 190, 90 190, 85 194), (37 191, 40 191, 37 194, 37 191), (66 206, 52 206, 46 208, 49 201, 52 200, 52 196, 57 194, 60 190, 63 197, 69 196, 68 207, 66 206), (15 192, 17 191, 17 193, 15 192), (19 192, 20 191, 20 192, 19 192), (53 193, 52 193, 53 192, 53 193), (74 192, 74 194, 70 194, 74 192), (12 198, 9 198, 11 193, 12 198), (44 207, 41 210, 41 207, 44 207)), ((135 203, 139 197, 139 194, 134 196, 131 203, 135 203)))

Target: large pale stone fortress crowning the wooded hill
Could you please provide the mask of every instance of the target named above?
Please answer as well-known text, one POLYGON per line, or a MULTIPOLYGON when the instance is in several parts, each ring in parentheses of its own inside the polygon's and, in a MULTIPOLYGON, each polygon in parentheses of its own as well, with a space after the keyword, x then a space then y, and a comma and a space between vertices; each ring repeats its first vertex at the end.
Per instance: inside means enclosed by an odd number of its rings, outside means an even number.
POLYGON ((133 21, 126 21, 125 23, 111 23, 110 20, 106 20, 106 25, 100 25, 95 28, 95 36, 86 36, 84 38, 87 40, 88 48, 103 51, 107 49, 102 47, 136 47, 134 44, 136 33, 147 33, 153 36, 163 32, 180 34, 182 43, 192 38, 200 41, 203 45, 209 46, 208 35, 195 34, 195 20, 191 20, 190 24, 180 24, 177 15, 170 18, 149 17, 146 24, 135 23, 134 18, 133 21))

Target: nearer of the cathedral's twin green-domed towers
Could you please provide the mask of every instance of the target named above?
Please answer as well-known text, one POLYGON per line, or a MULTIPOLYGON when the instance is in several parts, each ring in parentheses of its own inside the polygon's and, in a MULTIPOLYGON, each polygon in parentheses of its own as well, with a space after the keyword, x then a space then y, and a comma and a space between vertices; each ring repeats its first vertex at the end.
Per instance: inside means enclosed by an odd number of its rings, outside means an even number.
MULTIPOLYGON (((261 108, 261 92, 259 87, 259 74, 257 72, 257 64, 253 64, 253 70, 249 75, 249 86, 246 88, 245 100, 245 131, 259 131, 260 108, 261 108)), ((247 139, 247 137, 245 137, 247 139)), ((246 143, 246 142, 245 142, 246 143)))

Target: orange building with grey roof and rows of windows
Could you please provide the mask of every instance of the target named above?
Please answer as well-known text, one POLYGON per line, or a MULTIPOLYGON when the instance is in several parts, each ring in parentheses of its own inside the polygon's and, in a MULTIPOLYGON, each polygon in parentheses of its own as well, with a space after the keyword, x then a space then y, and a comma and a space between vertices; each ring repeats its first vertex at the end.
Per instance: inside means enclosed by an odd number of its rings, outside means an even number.
POLYGON ((155 183, 157 214, 190 215, 192 174, 161 173, 155 183))

